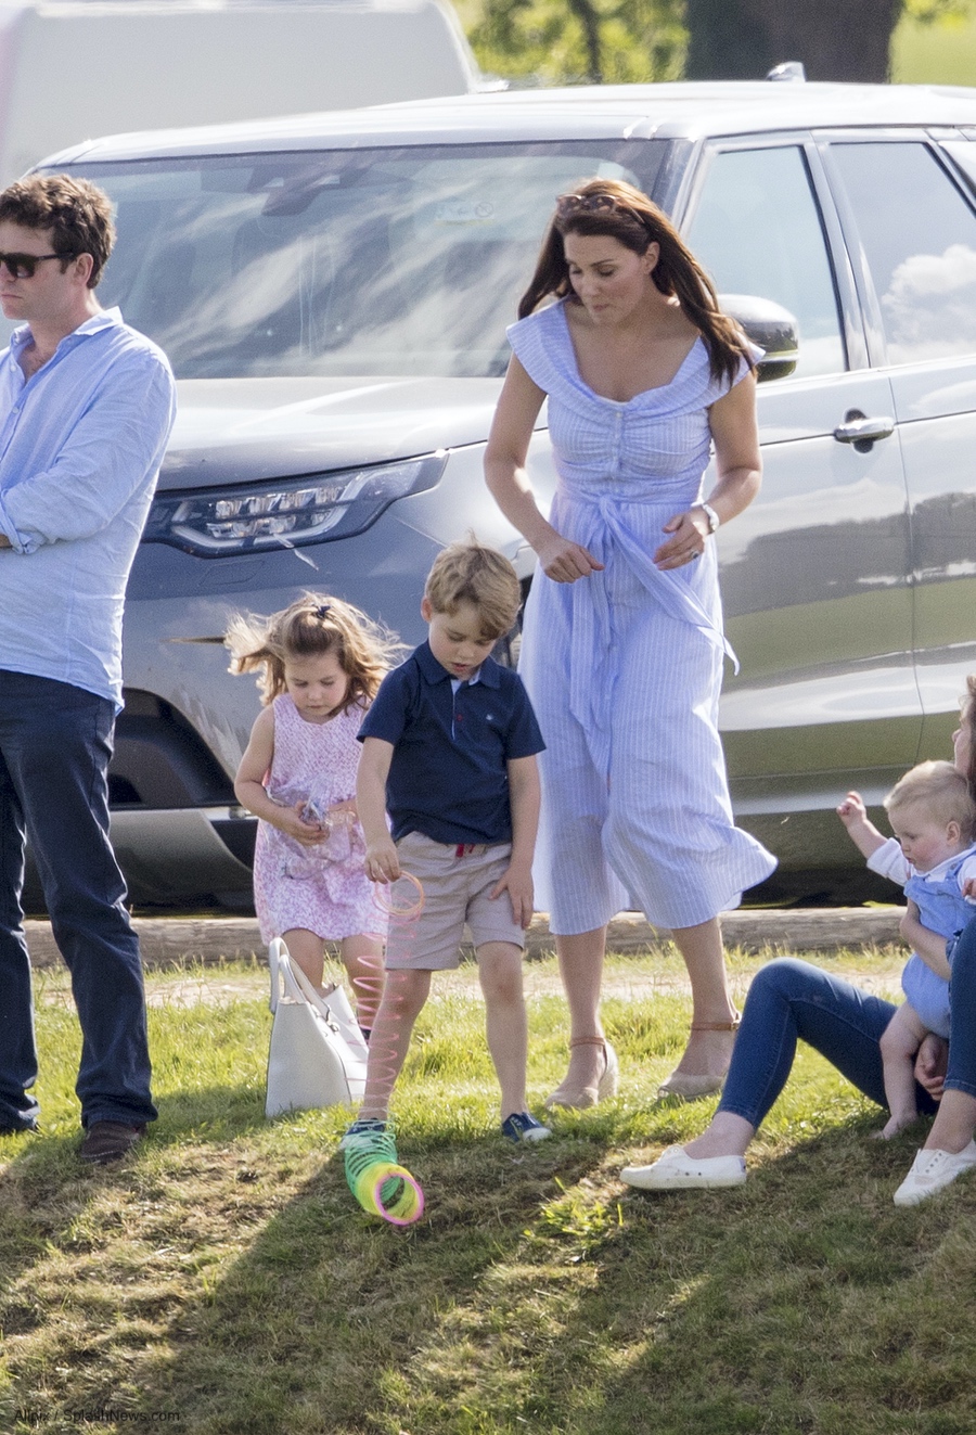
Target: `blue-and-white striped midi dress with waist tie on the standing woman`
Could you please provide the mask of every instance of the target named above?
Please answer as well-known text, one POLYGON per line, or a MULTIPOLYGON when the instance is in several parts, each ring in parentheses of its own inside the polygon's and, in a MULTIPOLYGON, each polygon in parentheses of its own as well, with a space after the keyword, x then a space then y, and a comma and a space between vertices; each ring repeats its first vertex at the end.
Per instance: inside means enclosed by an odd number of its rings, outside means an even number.
POLYGON ((606 564, 573 584, 537 574, 525 613, 520 672, 547 745, 538 901, 561 936, 621 908, 692 927, 775 867, 732 822, 715 544, 673 573, 652 563, 663 524, 700 497, 706 410, 728 385, 699 340, 666 387, 604 399, 578 375, 563 303, 508 337, 548 395, 551 521, 606 564))

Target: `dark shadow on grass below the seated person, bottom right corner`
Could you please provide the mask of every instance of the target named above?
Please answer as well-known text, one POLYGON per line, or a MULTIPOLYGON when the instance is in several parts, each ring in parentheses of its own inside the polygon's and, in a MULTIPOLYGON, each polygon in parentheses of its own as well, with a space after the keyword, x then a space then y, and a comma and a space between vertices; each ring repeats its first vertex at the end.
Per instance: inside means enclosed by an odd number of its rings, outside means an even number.
POLYGON ((876 1126, 848 1122, 751 1162, 743 1188, 624 1194, 623 1224, 591 1253, 590 1290, 535 1363, 518 1412, 528 1428, 976 1429, 976 1181, 942 1205, 897 1208, 923 1135, 888 1145, 870 1139, 876 1126))

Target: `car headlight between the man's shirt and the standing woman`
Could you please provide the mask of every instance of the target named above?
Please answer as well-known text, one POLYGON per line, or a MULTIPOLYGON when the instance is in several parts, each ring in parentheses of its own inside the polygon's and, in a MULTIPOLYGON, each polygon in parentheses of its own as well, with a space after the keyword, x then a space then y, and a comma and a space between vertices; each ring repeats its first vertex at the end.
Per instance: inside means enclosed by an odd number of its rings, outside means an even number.
POLYGON ((433 488, 445 462, 439 452, 336 474, 159 494, 142 540, 220 558, 350 538, 398 498, 433 488))

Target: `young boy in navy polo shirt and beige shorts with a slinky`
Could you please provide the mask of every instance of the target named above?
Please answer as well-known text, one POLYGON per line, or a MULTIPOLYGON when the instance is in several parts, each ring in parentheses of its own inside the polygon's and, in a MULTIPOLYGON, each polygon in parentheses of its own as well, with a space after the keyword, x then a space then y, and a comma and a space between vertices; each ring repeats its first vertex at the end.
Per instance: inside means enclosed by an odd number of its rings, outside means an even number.
POLYGON ((525 1111, 522 949, 532 918, 532 850, 544 748, 521 679, 491 659, 518 614, 521 590, 502 554, 452 544, 433 564, 421 613, 428 640, 389 673, 359 732, 356 806, 366 872, 423 884, 415 923, 393 923, 386 986, 373 1023, 366 1095, 343 1148, 396 1159, 389 1102, 431 990, 458 966, 465 923, 478 953, 488 1048, 511 1141, 550 1135, 525 1111), (392 819, 392 835, 386 814, 392 819))

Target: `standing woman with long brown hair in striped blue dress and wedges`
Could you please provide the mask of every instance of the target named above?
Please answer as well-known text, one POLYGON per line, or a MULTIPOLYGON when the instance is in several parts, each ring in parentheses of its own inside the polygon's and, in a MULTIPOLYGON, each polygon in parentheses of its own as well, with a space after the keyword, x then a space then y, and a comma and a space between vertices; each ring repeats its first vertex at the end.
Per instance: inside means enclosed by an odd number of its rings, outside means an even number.
POLYGON ((733 825, 716 726, 710 537, 759 488, 756 350, 665 215, 611 179, 560 198, 508 336, 485 472, 538 555, 521 672, 547 743, 537 870, 571 1020, 550 1104, 616 1092, 599 1000, 606 927, 624 907, 672 928, 690 977, 690 1039, 662 1091, 703 1096, 738 1026, 718 914, 775 867, 733 825), (525 472, 547 397, 548 521, 525 472))

